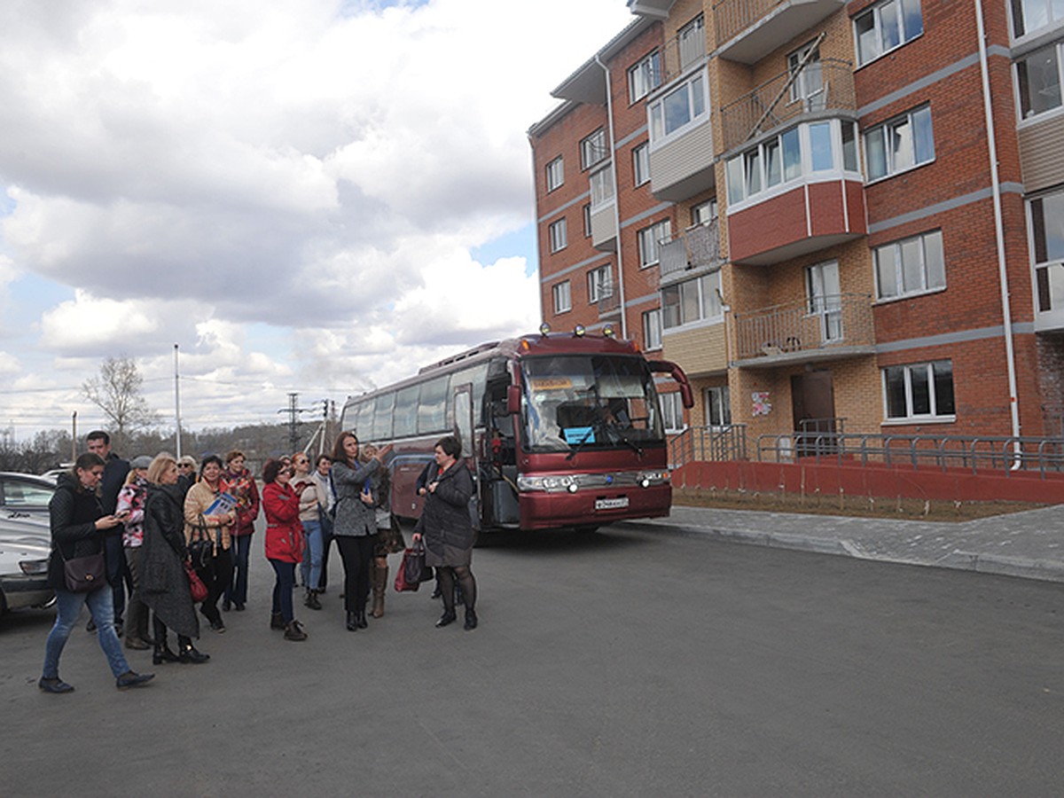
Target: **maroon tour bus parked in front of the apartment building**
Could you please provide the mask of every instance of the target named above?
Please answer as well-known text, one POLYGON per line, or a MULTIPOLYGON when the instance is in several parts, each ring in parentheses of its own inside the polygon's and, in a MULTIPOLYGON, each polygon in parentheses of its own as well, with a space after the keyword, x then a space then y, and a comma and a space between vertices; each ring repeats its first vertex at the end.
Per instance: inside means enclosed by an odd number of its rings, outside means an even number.
POLYGON ((691 387, 679 366, 648 361, 611 335, 538 334, 483 344, 416 377, 348 399, 342 425, 392 443, 392 513, 416 518, 415 482, 435 443, 455 435, 473 475, 479 528, 593 530, 666 516, 672 500, 655 373, 691 387))

